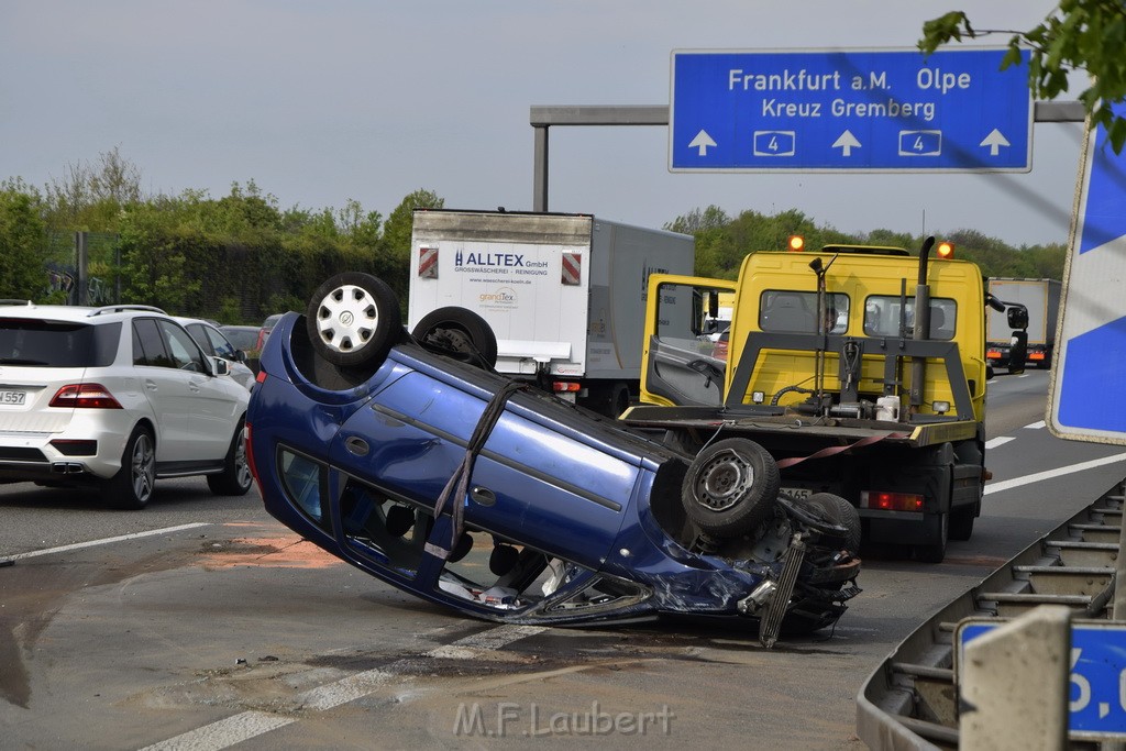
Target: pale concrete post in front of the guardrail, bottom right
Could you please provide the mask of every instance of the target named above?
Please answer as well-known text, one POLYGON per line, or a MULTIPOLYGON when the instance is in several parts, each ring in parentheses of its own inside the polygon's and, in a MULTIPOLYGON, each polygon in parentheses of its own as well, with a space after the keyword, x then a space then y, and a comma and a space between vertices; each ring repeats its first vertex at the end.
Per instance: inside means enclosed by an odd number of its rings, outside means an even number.
POLYGON ((1060 605, 1042 605, 967 642, 959 656, 959 748, 1065 748, 1070 650, 1071 611, 1060 605))

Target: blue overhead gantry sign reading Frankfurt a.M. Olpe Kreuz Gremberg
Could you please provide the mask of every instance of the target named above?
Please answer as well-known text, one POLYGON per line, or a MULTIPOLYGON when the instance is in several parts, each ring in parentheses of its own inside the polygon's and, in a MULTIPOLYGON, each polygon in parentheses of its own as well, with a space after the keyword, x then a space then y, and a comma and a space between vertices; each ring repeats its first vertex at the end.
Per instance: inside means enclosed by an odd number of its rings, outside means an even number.
POLYGON ((676 51, 669 169, 1027 172, 1027 53, 1004 55, 676 51))

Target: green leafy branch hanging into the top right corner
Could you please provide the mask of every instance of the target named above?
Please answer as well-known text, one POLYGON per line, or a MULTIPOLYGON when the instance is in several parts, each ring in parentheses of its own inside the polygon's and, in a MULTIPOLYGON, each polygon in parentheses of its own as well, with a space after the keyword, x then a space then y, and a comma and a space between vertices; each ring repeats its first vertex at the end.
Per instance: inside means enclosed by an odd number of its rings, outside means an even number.
POLYGON ((1004 70, 1020 63, 1024 48, 1030 50, 1028 88, 1037 99, 1055 99, 1067 91, 1069 73, 1085 70, 1090 86, 1079 95, 1091 127, 1101 125, 1115 153, 1126 144, 1126 118, 1112 106, 1126 98, 1126 6, 1121 0, 1062 0, 1045 19, 1027 32, 976 29, 964 11, 954 10, 922 27, 919 48, 935 52, 951 39, 975 39, 1007 34, 1009 51, 1004 70))

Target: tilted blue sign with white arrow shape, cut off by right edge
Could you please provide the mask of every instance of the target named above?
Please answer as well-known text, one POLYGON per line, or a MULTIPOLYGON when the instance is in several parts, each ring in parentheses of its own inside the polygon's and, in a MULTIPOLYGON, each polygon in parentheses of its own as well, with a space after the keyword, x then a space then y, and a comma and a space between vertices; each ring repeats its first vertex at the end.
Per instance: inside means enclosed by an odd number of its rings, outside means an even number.
MULTIPOLYGON (((1116 108, 1126 114, 1126 107, 1116 108)), ((1083 149, 1064 270, 1048 428, 1060 438, 1126 444, 1126 154, 1103 128, 1083 149)))

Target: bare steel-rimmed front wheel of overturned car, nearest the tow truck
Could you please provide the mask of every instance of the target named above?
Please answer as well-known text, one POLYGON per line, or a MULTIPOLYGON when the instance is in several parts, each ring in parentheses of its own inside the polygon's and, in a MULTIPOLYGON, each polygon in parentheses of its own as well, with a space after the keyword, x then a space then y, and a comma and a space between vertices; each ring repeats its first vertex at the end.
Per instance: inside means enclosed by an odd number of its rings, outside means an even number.
POLYGON ((735 537, 770 518, 778 485, 778 465, 765 448, 747 438, 729 438, 692 459, 680 500, 703 531, 735 537))

